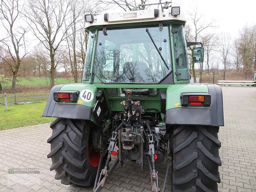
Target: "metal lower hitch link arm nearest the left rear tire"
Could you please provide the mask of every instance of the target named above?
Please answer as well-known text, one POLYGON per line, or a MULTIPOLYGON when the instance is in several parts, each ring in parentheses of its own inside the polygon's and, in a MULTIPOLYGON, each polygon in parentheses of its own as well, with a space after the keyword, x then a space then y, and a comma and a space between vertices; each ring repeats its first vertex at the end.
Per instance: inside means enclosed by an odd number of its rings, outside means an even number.
POLYGON ((92 190, 93 192, 98 192, 101 190, 101 188, 105 187, 105 182, 108 177, 108 174, 111 174, 111 172, 116 168, 116 166, 119 162, 119 159, 117 158, 115 160, 114 164, 112 164, 111 168, 108 170, 108 165, 109 165, 109 162, 111 161, 111 154, 112 154, 112 152, 115 148, 115 144, 116 144, 116 136, 117 136, 117 132, 113 132, 111 140, 109 142, 109 146, 108 146, 107 160, 106 160, 105 166, 101 170, 101 172, 100 172, 100 167, 101 167, 101 163, 103 160, 103 156, 102 155, 100 156, 100 163, 98 166, 98 171, 97 171, 96 180, 94 183, 94 188, 92 190), (99 172, 100 172, 100 176, 99 176, 99 172))

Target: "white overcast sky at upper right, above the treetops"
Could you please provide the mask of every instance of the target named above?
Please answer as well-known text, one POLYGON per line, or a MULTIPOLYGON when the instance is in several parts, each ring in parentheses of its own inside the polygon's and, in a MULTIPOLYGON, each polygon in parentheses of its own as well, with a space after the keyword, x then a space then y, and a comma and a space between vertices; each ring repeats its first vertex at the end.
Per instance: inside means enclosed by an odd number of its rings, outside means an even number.
POLYGON ((178 5, 188 12, 195 9, 195 4, 205 21, 216 20, 216 32, 224 31, 236 37, 244 25, 256 24, 255 0, 172 0, 172 6, 178 5))

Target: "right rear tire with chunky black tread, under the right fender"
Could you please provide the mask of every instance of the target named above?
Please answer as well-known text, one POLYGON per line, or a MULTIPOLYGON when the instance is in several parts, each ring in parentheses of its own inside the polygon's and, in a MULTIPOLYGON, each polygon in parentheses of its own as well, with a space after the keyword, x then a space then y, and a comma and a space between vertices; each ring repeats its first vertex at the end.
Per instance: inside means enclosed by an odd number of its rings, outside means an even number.
POLYGON ((218 192, 219 127, 174 126, 172 192, 218 192))

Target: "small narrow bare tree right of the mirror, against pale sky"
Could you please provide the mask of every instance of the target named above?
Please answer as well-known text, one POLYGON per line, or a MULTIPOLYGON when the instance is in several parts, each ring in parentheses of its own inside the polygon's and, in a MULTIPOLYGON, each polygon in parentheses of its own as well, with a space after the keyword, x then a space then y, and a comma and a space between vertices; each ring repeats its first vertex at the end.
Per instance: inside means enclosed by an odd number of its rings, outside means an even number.
POLYGON ((230 35, 228 33, 221 33, 219 43, 220 43, 220 54, 222 57, 224 70, 226 71, 227 66, 229 64, 228 57, 230 55, 231 48, 232 48, 232 42, 231 42, 230 35))

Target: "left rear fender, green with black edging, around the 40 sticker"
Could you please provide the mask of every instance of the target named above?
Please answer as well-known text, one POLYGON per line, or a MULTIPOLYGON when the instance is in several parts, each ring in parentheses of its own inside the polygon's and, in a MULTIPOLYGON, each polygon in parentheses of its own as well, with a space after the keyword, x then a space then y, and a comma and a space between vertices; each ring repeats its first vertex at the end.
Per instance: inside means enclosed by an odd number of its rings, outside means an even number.
POLYGON ((96 101, 97 88, 91 84, 60 84, 55 85, 50 92, 48 101, 46 103, 43 116, 45 117, 61 117, 68 119, 92 119, 92 107, 96 101), (90 89, 94 93, 94 98, 91 102, 82 102, 80 94, 78 103, 57 103, 53 100, 53 93, 59 91, 79 91, 90 89), (82 103, 82 104, 81 104, 82 103))

